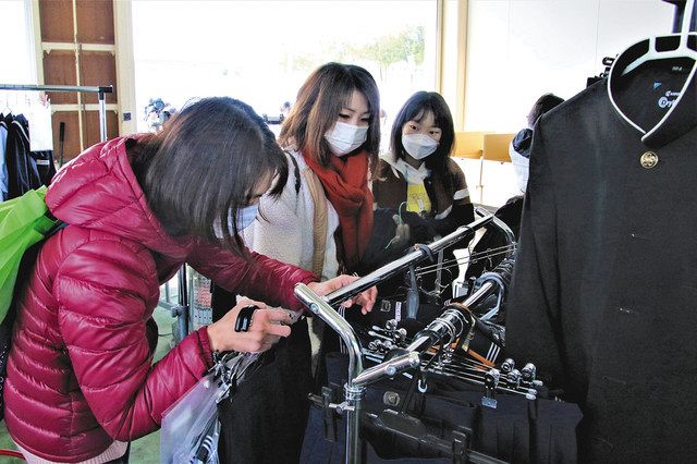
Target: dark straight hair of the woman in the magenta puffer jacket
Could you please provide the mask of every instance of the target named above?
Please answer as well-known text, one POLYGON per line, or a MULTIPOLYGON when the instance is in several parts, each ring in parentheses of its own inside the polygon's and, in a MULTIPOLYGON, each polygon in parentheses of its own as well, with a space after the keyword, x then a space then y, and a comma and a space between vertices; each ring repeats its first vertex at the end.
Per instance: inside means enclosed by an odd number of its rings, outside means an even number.
POLYGON ((222 242, 246 256, 237 232, 237 211, 260 183, 288 179, 285 156, 264 120, 248 105, 227 97, 186 106, 157 134, 138 139, 134 171, 148 205, 164 230, 222 242), (228 222, 232 219, 232 228, 228 222))

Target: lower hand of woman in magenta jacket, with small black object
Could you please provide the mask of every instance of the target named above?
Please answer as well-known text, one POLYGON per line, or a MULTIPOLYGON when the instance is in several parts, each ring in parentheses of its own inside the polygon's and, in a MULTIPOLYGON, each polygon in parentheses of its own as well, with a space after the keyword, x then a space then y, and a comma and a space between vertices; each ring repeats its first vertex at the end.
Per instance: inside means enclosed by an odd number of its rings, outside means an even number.
POLYGON ((291 312, 271 308, 264 303, 242 298, 217 322, 208 326, 208 339, 212 351, 239 351, 260 353, 270 349, 281 337, 291 334, 291 312), (258 306, 246 332, 235 332, 235 321, 245 306, 258 306))

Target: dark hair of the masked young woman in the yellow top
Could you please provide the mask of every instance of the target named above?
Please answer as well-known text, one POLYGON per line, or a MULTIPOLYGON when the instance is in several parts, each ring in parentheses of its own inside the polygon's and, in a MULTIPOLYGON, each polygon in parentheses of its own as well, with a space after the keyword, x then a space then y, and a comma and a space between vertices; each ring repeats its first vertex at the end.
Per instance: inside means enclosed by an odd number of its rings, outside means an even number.
POLYGON ((405 159, 406 150, 402 145, 402 129, 408 121, 420 122, 428 113, 433 114, 437 127, 441 130, 438 148, 429 155, 424 163, 431 171, 433 179, 439 179, 448 194, 453 194, 452 174, 448 170, 448 160, 455 144, 455 126, 445 99, 437 91, 417 91, 412 95, 398 112, 392 133, 390 134, 390 151, 394 159, 405 159))

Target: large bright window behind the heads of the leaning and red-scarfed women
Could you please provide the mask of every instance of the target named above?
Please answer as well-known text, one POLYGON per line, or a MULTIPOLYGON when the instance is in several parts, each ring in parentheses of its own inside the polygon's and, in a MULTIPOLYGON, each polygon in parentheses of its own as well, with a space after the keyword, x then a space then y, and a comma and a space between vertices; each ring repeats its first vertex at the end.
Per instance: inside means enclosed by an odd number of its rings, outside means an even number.
POLYGON ((414 91, 435 88, 436 24, 435 0, 136 0, 137 107, 231 96, 278 115, 313 70, 339 61, 370 71, 390 118, 414 91))

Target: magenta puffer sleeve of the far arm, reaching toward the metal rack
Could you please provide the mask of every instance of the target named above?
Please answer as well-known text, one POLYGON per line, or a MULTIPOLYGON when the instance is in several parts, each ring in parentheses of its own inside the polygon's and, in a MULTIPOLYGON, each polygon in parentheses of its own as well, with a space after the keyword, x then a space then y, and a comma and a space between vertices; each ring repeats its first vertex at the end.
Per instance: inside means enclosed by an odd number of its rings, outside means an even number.
POLYGON ((187 257, 187 262, 228 292, 271 306, 303 309, 293 289, 299 282, 316 282, 317 277, 258 253, 249 252, 249 259, 245 260, 225 248, 199 242, 187 257))

